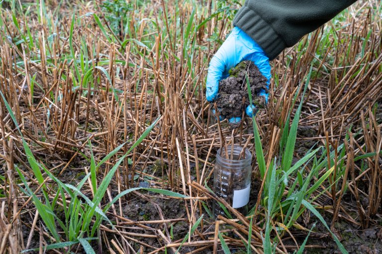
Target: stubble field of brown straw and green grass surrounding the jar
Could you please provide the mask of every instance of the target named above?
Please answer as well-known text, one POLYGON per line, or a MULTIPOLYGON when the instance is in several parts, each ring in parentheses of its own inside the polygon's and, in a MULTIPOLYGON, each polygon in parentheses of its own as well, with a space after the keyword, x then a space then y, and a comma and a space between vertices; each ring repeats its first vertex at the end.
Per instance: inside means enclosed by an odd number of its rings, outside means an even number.
POLYGON ((382 253, 381 1, 272 61, 232 130, 205 79, 242 4, 0 1, 1 254, 382 253), (232 144, 247 214, 211 190, 232 144))

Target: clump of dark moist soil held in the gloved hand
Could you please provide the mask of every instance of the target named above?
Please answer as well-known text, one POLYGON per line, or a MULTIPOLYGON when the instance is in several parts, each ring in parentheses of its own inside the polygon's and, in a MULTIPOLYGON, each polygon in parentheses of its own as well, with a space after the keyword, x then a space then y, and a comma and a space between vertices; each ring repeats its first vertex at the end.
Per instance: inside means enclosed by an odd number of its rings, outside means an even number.
POLYGON ((258 109, 265 108, 264 96, 259 96, 261 89, 268 92, 267 78, 264 77, 259 68, 252 61, 243 61, 229 71, 229 77, 219 82, 219 91, 216 102, 220 116, 231 118, 241 116, 243 110, 249 105, 246 76, 252 92, 253 104, 258 109))

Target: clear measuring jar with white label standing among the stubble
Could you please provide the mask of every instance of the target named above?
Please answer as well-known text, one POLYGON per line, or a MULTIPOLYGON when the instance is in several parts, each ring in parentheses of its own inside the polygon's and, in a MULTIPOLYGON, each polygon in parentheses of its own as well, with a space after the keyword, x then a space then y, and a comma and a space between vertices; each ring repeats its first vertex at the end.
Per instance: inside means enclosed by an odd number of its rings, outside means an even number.
MULTIPOLYGON (((224 148, 217 151, 213 169, 213 192, 227 201, 233 208, 246 215, 251 190, 252 155, 248 149, 241 155, 242 150, 241 146, 235 145, 233 150, 228 146, 227 153, 224 148)), ((215 200, 212 209, 215 219, 219 214, 225 216, 224 210, 215 200)))

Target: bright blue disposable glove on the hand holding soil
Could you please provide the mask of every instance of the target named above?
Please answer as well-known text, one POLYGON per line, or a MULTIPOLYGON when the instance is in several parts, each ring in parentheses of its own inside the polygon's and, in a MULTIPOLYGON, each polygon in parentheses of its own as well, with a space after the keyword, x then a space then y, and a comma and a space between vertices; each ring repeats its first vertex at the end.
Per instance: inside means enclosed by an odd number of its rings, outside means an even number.
MULTIPOLYGON (((229 76, 228 71, 235 67, 243 60, 251 60, 259 68, 261 74, 268 79, 267 88, 271 80, 271 66, 269 65, 269 58, 265 55, 263 49, 243 30, 239 27, 234 27, 227 39, 221 45, 216 54, 212 57, 209 63, 207 75, 207 101, 213 101, 219 90, 219 81, 229 76)), ((259 95, 265 96, 268 102, 268 93, 264 89, 260 91, 259 95)), ((249 105, 245 112, 248 116, 257 113, 255 105, 249 105)), ((222 117, 219 117, 223 120, 222 117)), ((239 123, 241 116, 232 117, 228 119, 231 123, 239 123)))

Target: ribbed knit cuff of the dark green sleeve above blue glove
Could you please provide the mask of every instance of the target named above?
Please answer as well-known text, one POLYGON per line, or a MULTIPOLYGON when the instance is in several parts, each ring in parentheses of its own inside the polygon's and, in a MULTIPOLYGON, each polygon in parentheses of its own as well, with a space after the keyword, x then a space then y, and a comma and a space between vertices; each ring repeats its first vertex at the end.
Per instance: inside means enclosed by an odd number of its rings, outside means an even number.
POLYGON ((264 50, 269 60, 275 59, 287 47, 273 27, 246 5, 237 12, 233 25, 251 36, 264 50))

